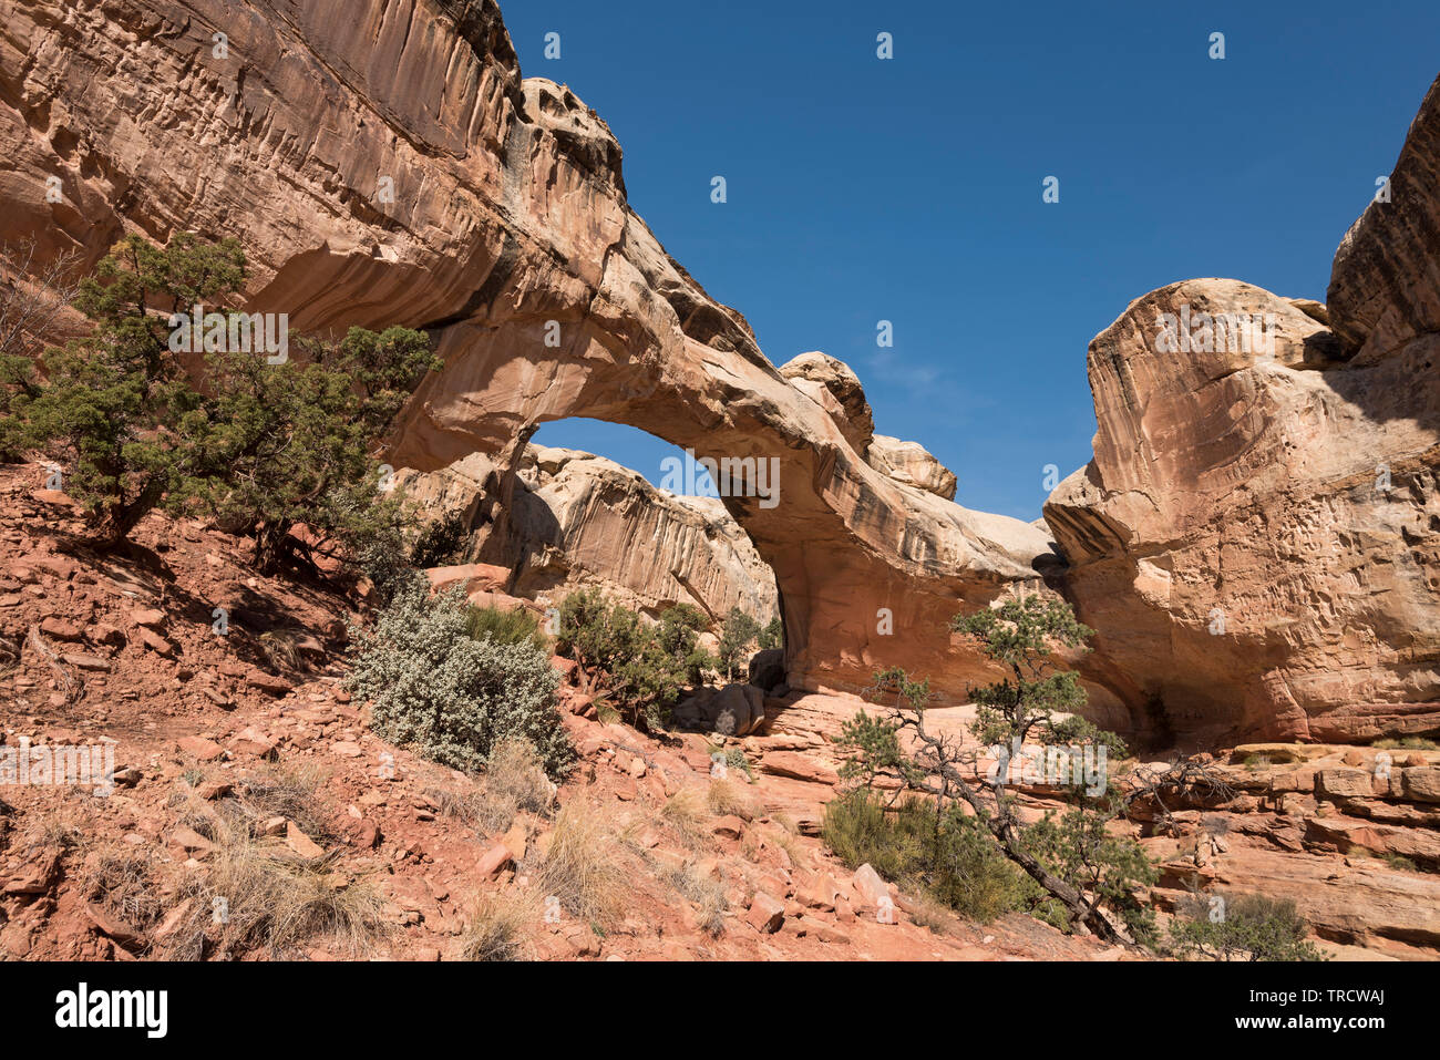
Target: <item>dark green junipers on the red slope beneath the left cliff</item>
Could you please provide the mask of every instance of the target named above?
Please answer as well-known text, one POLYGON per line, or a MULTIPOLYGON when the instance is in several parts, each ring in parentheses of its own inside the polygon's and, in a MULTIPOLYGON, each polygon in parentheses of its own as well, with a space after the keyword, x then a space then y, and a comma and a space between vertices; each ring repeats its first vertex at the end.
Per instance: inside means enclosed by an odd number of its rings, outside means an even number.
POLYGON ((91 334, 48 350, 43 382, 13 357, 0 361, 0 444, 65 462, 65 490, 101 547, 120 544, 157 506, 253 534, 262 570, 297 553, 308 560, 327 540, 350 556, 389 546, 406 520, 377 488, 369 449, 438 367, 428 338, 406 328, 351 328, 336 343, 292 336, 300 356, 284 363, 207 347, 200 364, 179 351, 171 317, 216 311, 243 281, 235 239, 121 239, 75 298, 91 334), (292 536, 300 523, 310 534, 292 536))

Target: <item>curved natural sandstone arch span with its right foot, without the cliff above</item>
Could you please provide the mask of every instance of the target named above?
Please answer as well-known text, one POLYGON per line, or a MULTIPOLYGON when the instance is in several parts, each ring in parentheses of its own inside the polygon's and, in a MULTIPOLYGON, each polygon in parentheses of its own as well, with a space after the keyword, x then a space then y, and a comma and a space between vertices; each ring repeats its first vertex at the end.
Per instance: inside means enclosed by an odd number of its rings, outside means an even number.
POLYGON ((903 665, 955 703, 991 680, 946 624, 1004 592, 1043 588, 1058 566, 1044 529, 877 471, 864 455, 870 434, 855 429, 864 399, 852 374, 783 374, 634 215, 624 246, 635 258, 602 255, 606 275, 575 292, 579 304, 526 311, 516 292, 436 328, 445 367, 402 416, 393 462, 435 471, 480 454, 497 487, 481 518, 503 518, 547 422, 628 425, 716 465, 773 461, 773 503, 732 494, 721 504, 775 572, 789 684, 858 691, 874 670, 903 665))

